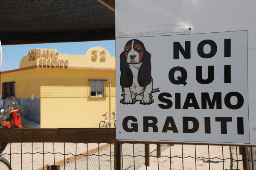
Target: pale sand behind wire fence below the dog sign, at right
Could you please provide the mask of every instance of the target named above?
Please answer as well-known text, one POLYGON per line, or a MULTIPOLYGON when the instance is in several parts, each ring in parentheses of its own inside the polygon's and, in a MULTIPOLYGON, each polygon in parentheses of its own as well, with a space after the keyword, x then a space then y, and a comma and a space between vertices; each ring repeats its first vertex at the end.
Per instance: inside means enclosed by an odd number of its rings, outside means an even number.
MULTIPOLYGON (((150 152, 156 149, 155 144, 150 144, 150 152)), ((239 155, 239 147, 237 147, 238 153, 238 160, 242 159, 242 156, 239 155)), ((230 158, 236 159, 236 147, 223 147, 223 155, 224 159, 230 158), (231 154, 230 154, 231 149, 231 154)), ((156 156, 156 155, 153 155, 156 156)), ((182 159, 177 158, 174 156, 182 157, 182 145, 175 144, 171 146, 171 157, 173 158, 166 158, 164 156, 170 157, 170 148, 166 149, 164 152, 161 153, 161 158, 150 158, 150 166, 146 167, 143 165, 139 168, 139 170, 168 170, 172 166, 172 170, 237 170, 237 162, 230 161, 230 159, 224 160, 224 168, 223 168, 223 161, 222 161, 222 146, 209 146, 209 153, 208 153, 208 146, 204 145, 196 145, 196 157, 197 159, 193 159, 195 157, 195 145, 183 145, 183 157, 191 156, 193 158, 186 158, 182 159), (210 168, 209 168, 209 155, 210 158, 220 158, 220 159, 210 159, 210 168), (204 158, 199 158, 204 157, 204 158), (171 164, 170 164, 171 162, 171 164), (196 164, 196 168, 195 168, 196 164)), ((238 161, 239 170, 243 170, 242 161, 238 161)))

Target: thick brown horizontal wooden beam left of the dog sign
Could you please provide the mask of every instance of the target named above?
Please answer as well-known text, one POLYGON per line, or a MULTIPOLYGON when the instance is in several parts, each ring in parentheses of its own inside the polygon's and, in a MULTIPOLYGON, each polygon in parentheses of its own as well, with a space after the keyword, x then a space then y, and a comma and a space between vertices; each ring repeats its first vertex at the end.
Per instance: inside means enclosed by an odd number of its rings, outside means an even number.
POLYGON ((31 128, 0 129, 0 143, 5 142, 73 142, 115 143, 114 128, 31 128))

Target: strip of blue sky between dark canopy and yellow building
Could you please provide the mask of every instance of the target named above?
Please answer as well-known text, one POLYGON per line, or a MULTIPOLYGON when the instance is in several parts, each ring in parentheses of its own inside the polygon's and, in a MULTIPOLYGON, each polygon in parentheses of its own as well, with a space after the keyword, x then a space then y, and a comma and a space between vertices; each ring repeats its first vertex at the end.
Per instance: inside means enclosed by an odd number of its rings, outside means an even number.
POLYGON ((108 41, 89 41, 89 42, 61 42, 47 44, 28 44, 28 45, 2 45, 3 61, 1 71, 18 69, 22 55, 26 56, 29 50, 35 48, 55 49, 61 54, 85 55, 93 47, 105 48, 112 57, 116 56, 115 40, 108 41))

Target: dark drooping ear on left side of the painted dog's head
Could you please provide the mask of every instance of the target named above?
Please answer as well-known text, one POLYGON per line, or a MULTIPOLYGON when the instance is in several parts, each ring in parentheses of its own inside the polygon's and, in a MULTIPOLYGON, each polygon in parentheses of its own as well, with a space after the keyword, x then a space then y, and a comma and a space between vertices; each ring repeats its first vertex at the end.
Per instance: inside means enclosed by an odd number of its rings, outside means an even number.
POLYGON ((121 70, 121 76, 120 76, 120 85, 122 87, 128 88, 131 87, 133 83, 133 77, 132 77, 132 71, 129 68, 129 65, 125 58, 125 51, 123 51, 120 54, 120 70, 121 70))

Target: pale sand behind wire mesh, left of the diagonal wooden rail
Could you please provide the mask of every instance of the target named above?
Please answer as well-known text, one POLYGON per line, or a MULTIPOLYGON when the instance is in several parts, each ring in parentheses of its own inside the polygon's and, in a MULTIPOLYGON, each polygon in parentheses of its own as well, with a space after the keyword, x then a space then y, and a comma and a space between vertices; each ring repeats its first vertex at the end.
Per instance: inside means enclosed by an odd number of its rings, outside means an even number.
MULTIPOLYGON (((99 146, 102 146, 104 144, 99 144, 99 146)), ((96 143, 90 143, 88 144, 88 150, 97 148, 98 144, 96 143)), ((47 164, 53 165, 54 160, 55 162, 61 161, 64 159, 64 143, 54 143, 54 151, 53 151, 53 143, 44 143, 44 157, 43 157, 43 143, 33 143, 33 150, 32 150, 32 143, 12 143, 8 144, 6 146, 6 149, 4 150, 4 153, 10 154, 10 148, 11 153, 17 153, 12 154, 11 159, 10 155, 4 155, 3 157, 7 159, 11 163, 12 170, 36 170, 38 168, 41 168, 47 164), (23 154, 21 158, 21 149, 23 154), (48 153, 49 152, 49 153, 48 153), (52 153, 58 153, 53 156, 52 153), (35 153, 35 154, 30 154, 35 153), (22 161, 21 161, 22 159, 22 161), (22 166, 21 166, 22 162, 22 166)), ((75 154, 84 153, 87 151, 87 144, 79 143, 65 143, 65 159, 68 157, 72 157, 75 154), (71 155, 73 154, 73 155, 71 155)))

